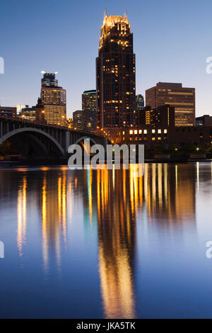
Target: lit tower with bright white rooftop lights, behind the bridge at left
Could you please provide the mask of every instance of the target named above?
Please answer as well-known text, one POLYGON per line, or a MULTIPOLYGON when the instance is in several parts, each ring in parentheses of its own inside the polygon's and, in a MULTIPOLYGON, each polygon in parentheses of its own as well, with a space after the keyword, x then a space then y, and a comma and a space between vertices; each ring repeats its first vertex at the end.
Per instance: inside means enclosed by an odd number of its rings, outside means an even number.
POLYGON ((57 73, 42 72, 40 98, 48 124, 66 125, 66 90, 58 86, 57 73))

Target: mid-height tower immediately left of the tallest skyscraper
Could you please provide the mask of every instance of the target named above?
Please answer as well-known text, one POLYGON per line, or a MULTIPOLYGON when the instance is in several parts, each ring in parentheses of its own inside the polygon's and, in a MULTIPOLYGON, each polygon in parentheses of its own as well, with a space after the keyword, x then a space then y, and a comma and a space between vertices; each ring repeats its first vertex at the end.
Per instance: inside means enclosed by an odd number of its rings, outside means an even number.
POLYGON ((96 130, 96 90, 87 90, 82 94, 82 128, 86 131, 96 130))

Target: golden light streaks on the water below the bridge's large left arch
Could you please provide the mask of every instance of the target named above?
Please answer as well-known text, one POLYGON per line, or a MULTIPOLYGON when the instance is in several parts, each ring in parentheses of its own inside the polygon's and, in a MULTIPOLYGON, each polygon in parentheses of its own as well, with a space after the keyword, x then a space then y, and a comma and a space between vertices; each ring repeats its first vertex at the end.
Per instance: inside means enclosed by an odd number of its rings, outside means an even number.
MULTIPOLYGON (((67 179, 66 168, 60 169, 59 172, 51 173, 48 168, 42 168, 42 177, 40 184, 35 186, 30 178, 30 184, 26 174, 23 173, 18 188, 17 202, 17 247, 19 255, 23 255, 23 244, 26 237, 27 222, 27 198, 30 195, 37 196, 36 208, 40 208, 42 221, 42 253, 45 271, 49 264, 49 254, 52 250, 55 253, 57 264, 60 264, 60 243, 61 238, 66 244, 66 220, 67 220, 67 179), (39 188, 41 186, 41 188, 39 188), (37 204, 38 203, 38 204, 37 204)), ((69 186, 69 196, 71 187, 69 186)), ((71 201, 70 201, 71 203, 71 201)), ((71 219, 71 205, 69 207, 69 218, 71 219)))

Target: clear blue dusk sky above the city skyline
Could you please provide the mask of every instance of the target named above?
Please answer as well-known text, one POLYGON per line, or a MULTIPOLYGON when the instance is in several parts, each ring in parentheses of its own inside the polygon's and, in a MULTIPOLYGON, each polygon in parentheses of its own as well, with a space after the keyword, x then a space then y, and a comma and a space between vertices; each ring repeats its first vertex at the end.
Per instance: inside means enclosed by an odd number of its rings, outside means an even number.
POLYGON ((212 115, 211 0, 1 0, 1 106, 33 106, 42 70, 58 71, 67 91, 67 115, 81 109, 81 94, 95 89, 103 11, 127 16, 134 33, 136 94, 158 81, 196 88, 196 115, 212 115))

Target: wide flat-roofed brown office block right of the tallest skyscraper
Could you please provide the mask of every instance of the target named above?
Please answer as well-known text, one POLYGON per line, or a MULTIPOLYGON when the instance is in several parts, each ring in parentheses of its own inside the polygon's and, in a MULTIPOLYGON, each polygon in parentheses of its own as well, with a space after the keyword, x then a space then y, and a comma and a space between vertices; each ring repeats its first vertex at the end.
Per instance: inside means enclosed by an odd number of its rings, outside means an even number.
POLYGON ((182 84, 158 82, 146 90, 146 106, 170 105, 175 108, 175 126, 195 125, 195 89, 182 84))

